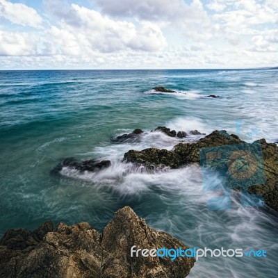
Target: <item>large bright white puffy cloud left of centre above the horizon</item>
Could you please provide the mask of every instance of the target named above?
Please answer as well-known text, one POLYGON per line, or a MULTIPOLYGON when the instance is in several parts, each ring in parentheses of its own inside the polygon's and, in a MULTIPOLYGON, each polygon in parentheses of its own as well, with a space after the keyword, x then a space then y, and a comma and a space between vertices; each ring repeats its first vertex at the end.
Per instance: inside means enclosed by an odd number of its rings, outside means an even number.
POLYGON ((156 24, 113 20, 76 4, 72 4, 70 13, 79 24, 69 22, 62 16, 60 28, 52 26, 50 30, 53 43, 61 54, 111 53, 124 49, 159 51, 166 46, 163 33, 156 24))

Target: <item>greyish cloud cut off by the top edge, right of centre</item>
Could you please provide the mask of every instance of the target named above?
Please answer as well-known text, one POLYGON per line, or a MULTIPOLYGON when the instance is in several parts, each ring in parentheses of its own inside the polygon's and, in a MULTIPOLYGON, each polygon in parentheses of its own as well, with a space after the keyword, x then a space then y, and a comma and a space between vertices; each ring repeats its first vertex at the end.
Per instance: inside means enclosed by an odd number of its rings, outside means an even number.
POLYGON ((101 13, 112 17, 133 17, 139 20, 173 25, 183 33, 196 35, 207 31, 209 18, 200 0, 188 5, 183 0, 96 0, 101 13), (203 29, 203 30, 202 30, 203 29))

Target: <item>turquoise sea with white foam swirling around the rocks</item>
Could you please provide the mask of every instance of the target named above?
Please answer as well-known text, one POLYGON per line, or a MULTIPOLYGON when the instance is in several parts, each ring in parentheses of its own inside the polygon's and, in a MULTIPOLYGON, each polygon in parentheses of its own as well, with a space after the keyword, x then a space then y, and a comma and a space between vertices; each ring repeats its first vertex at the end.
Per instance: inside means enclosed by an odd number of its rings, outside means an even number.
POLYGON ((114 211, 130 205, 149 225, 186 245, 269 254, 200 259, 189 277, 274 278, 277 213, 243 208, 236 198, 231 210, 208 211, 197 167, 149 174, 121 162, 129 149, 171 149, 177 139, 156 132, 140 143, 115 145, 111 137, 167 125, 205 133, 226 129, 249 142, 275 142, 277 104, 278 70, 1 71, 0 234, 34 229, 49 219, 102 229, 114 211), (155 93, 156 85, 179 93, 155 93), (112 166, 97 174, 67 168, 50 174, 72 156, 107 158, 112 166))

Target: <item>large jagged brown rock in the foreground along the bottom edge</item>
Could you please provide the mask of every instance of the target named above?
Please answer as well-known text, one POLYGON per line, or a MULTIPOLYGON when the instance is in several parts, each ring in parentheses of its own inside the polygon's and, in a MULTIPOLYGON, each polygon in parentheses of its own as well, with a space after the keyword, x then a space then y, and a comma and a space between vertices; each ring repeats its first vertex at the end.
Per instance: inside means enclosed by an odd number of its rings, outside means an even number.
POLYGON ((58 224, 55 231, 47 222, 38 229, 9 230, 0 240, 0 277, 5 278, 183 278, 195 259, 177 257, 131 257, 131 247, 161 247, 186 250, 180 240, 147 226, 125 206, 104 228, 102 234, 90 224, 58 224), (18 245, 21 238, 21 245, 18 245))

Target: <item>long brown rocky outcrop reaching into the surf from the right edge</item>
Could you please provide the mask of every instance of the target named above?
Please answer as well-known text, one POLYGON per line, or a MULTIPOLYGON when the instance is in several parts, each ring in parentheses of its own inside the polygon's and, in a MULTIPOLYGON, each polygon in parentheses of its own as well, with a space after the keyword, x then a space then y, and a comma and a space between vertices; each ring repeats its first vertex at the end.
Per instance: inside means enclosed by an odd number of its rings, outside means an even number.
POLYGON ((265 204, 278 211, 278 147, 264 139, 251 144, 226 131, 213 131, 197 142, 179 143, 172 151, 130 150, 124 161, 159 169, 201 163, 227 177, 231 188, 261 195, 265 204))

